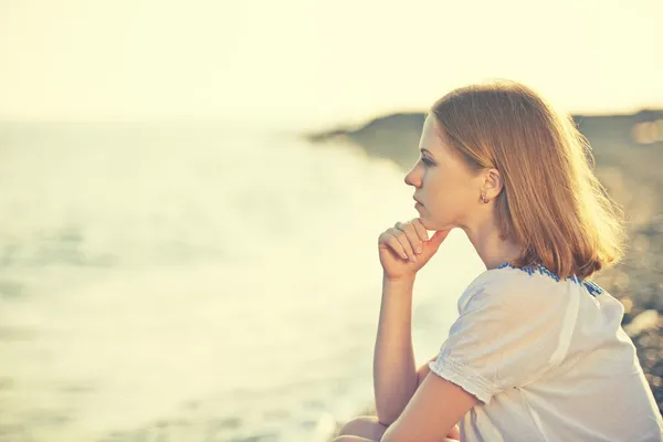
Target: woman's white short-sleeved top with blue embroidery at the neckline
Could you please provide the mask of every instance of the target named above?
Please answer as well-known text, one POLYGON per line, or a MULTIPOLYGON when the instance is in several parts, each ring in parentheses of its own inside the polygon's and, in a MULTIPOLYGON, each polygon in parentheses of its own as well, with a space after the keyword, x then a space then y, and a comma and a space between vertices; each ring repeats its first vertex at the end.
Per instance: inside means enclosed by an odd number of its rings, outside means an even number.
POLYGON ((596 283, 505 263, 457 307, 429 367, 480 400, 461 442, 663 441, 623 306, 596 283))

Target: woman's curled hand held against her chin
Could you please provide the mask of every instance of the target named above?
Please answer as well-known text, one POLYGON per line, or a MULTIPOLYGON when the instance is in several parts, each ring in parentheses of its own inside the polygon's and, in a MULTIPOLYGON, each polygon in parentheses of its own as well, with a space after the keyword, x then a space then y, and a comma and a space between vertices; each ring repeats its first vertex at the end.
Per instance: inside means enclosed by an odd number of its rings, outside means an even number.
POLYGON ((389 280, 413 278, 435 254, 450 230, 435 231, 429 240, 421 220, 397 222, 378 238, 380 264, 389 280))

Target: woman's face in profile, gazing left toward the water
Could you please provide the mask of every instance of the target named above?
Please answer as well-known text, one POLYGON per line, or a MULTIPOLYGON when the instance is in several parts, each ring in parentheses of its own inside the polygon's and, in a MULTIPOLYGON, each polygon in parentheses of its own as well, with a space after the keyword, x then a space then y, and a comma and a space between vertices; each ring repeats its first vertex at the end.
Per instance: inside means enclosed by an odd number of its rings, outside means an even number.
POLYGON ((443 137, 435 117, 429 115, 419 143, 421 157, 404 179, 414 187, 413 197, 421 202, 417 210, 427 230, 465 227, 481 201, 481 175, 472 173, 443 137))

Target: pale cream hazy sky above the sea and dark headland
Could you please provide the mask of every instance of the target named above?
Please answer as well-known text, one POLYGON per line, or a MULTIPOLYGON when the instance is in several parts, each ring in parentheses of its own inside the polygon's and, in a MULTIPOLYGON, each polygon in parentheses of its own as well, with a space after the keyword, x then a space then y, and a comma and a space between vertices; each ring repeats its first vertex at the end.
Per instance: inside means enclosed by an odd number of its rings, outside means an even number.
POLYGON ((473 82, 663 107, 663 1, 0 0, 0 120, 359 122, 473 82))

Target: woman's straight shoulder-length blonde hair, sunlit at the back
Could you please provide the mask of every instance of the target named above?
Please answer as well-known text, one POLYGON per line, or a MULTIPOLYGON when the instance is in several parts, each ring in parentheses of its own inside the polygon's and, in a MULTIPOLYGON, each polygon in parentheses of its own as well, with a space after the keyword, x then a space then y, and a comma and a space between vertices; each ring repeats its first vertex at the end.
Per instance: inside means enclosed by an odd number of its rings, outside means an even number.
POLYGON ((593 175, 591 146, 571 115, 505 80, 456 88, 430 114, 470 170, 499 171, 495 215, 501 239, 522 246, 514 266, 586 278, 623 257, 623 210, 593 175))

